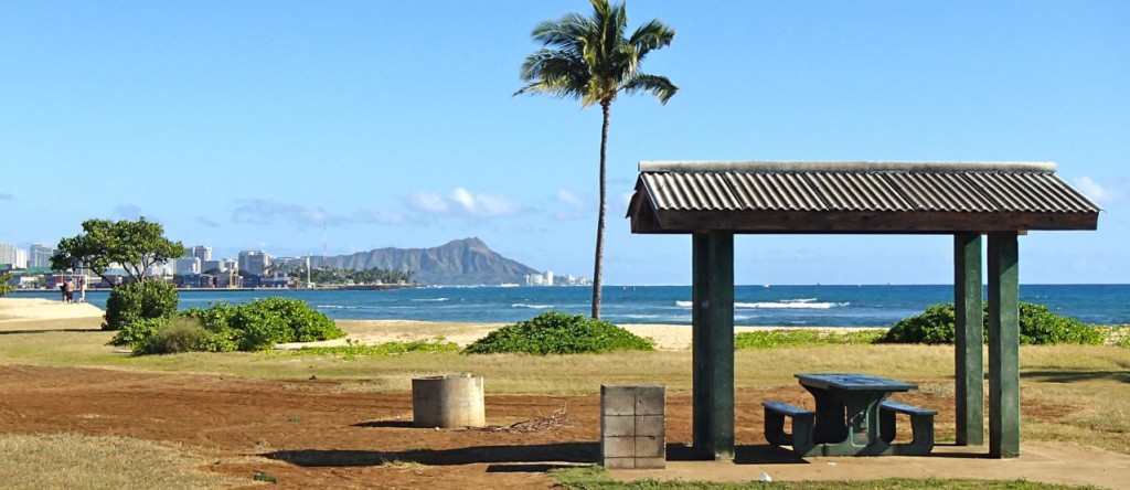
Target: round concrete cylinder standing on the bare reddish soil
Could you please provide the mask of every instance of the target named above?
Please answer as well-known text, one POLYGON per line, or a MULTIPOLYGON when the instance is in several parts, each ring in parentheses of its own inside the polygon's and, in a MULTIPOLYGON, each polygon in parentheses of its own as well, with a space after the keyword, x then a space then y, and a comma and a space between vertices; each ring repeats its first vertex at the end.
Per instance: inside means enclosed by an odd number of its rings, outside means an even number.
POLYGON ((416 427, 484 427, 483 376, 470 374, 412 379, 416 427))

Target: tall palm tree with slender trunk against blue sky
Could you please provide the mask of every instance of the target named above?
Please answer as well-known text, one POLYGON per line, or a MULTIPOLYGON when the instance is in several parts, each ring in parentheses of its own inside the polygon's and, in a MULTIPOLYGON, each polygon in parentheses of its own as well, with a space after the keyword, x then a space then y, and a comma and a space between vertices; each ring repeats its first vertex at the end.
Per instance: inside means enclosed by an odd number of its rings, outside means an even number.
POLYGON ((646 91, 661 104, 678 91, 667 77, 640 72, 640 63, 652 50, 671 44, 675 29, 653 19, 625 37, 627 14, 624 3, 590 0, 592 16, 566 14, 533 28, 531 36, 542 47, 522 62, 522 81, 514 95, 548 94, 581 100, 581 107, 600 104, 600 210, 597 218, 597 253, 592 273, 592 317, 600 320, 600 288, 605 248, 606 150, 608 114, 619 93, 646 91))

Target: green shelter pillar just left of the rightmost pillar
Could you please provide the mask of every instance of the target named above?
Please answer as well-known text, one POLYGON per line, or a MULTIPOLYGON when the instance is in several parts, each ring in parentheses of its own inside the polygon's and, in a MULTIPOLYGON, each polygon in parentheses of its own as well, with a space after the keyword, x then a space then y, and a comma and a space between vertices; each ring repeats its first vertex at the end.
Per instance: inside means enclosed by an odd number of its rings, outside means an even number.
POLYGON ((954 378, 957 445, 984 444, 984 335, 981 235, 954 235, 954 378))

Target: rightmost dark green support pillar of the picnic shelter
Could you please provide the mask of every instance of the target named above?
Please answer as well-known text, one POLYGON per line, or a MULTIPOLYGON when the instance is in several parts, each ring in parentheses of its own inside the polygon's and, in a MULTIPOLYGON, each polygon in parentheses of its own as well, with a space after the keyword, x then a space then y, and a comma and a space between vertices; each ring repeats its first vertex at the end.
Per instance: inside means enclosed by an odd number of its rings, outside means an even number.
POLYGON ((989 235, 989 456, 1020 456, 1020 281, 1016 233, 989 235))

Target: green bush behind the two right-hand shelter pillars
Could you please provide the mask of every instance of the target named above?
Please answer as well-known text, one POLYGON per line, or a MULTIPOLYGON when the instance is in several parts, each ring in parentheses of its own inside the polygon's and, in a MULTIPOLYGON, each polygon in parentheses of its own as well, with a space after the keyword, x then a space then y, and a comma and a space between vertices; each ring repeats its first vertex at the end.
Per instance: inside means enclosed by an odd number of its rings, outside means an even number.
MULTIPOLYGON (((988 304, 984 308, 982 332, 988 341, 988 304)), ((1022 303, 1019 307, 1022 344, 1102 344, 1103 332, 1075 318, 1057 315, 1043 305, 1022 303)), ((889 343, 954 343, 954 304, 931 305, 925 313, 895 324, 880 340, 889 343)))

